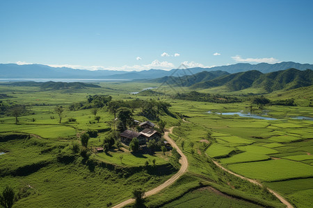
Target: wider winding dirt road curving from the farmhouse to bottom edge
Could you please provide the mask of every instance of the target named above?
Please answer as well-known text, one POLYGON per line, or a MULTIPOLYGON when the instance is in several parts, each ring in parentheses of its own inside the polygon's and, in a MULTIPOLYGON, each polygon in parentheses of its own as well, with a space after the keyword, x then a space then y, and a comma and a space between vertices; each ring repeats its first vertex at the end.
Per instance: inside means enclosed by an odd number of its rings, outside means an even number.
MULTIPOLYGON (((170 128, 170 130, 169 130, 170 133, 172 133, 173 128, 174 128, 174 126, 172 126, 170 128)), ((168 143, 170 143, 172 148, 176 148, 179 155, 182 156, 182 158, 179 160, 179 162, 182 164, 182 166, 180 167, 179 171, 175 175, 170 177, 169 180, 167 180, 166 182, 163 182, 163 184, 159 185, 159 187, 156 187, 150 191, 145 192, 145 196, 143 198, 147 198, 148 196, 152 196, 156 193, 159 193, 161 190, 165 189, 166 187, 169 187, 171 184, 173 184, 176 180, 178 180, 179 177, 182 176, 187 171, 187 168, 188 168, 187 157, 184 155, 184 153, 182 153, 182 150, 180 150, 178 148, 177 144, 175 144, 175 141, 173 141, 172 139, 170 139, 170 137, 168 137, 169 132, 164 133, 164 139, 166 139, 166 141, 168 141, 168 143)), ((115 205, 113 208, 125 207, 126 205, 129 205, 129 204, 134 203, 134 202, 135 202, 134 198, 130 198, 129 200, 125 200, 124 202, 121 202, 120 204, 115 205)))

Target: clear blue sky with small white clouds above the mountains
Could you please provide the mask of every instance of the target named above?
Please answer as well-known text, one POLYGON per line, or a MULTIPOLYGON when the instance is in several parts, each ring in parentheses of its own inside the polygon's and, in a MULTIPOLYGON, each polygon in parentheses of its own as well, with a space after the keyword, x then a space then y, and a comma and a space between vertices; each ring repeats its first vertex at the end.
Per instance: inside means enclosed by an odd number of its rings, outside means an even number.
POLYGON ((313 1, 0 1, 0 63, 313 64, 313 1))

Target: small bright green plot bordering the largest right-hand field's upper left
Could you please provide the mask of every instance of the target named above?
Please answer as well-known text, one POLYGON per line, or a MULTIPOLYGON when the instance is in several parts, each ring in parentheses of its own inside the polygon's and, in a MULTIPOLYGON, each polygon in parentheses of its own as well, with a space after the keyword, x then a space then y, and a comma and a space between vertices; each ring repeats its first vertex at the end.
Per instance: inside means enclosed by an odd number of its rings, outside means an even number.
POLYGON ((268 157, 267 155, 262 155, 258 153, 239 153, 237 155, 232 155, 232 157, 227 157, 225 159, 220 159, 220 162, 223 164, 234 164, 234 163, 241 163, 241 162, 253 162, 253 161, 261 161, 261 160, 267 160, 271 157, 268 157))

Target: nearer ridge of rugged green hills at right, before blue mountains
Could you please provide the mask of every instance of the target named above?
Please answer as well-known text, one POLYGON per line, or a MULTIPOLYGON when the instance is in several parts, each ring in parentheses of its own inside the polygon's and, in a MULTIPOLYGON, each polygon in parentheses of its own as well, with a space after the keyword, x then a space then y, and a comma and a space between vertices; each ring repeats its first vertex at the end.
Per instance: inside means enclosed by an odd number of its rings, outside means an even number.
POLYGON ((238 91, 249 87, 262 88, 266 92, 279 89, 295 89, 313 85, 313 71, 307 69, 285 69, 271 73, 262 73, 257 70, 227 73, 225 71, 202 71, 192 76, 166 76, 150 80, 152 83, 166 83, 191 89, 207 89, 225 86, 230 91, 238 91))

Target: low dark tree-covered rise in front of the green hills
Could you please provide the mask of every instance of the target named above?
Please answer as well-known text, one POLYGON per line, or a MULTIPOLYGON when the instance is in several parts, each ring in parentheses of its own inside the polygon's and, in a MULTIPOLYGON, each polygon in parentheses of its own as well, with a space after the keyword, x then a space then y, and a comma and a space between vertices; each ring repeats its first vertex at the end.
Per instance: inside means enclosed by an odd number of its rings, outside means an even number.
POLYGON ((201 92, 177 93, 174 98, 186 101, 202 101, 209 103, 241 103, 242 100, 235 96, 223 96, 220 94, 206 94, 201 92))

